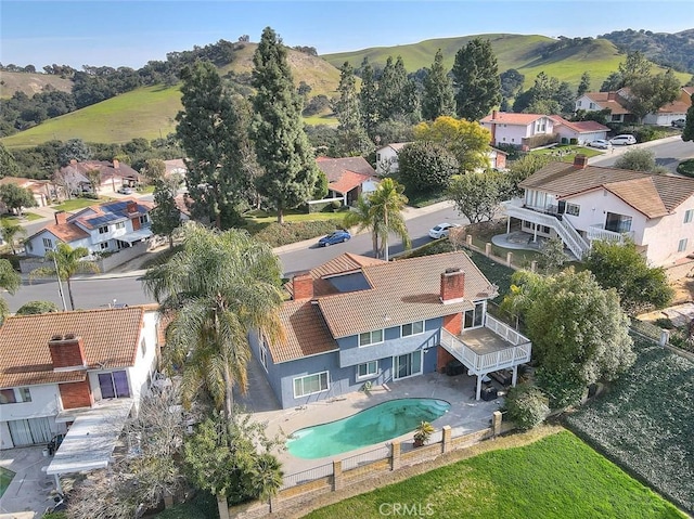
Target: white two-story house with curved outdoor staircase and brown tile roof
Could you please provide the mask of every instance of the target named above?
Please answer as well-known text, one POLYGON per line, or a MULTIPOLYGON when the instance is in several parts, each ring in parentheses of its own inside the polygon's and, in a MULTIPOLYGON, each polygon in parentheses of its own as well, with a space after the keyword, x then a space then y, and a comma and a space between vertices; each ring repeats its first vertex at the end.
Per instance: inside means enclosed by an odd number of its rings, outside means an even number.
POLYGON ((668 267, 694 255, 694 179, 551 163, 519 186, 524 196, 503 204, 509 219, 538 236, 558 236, 582 259, 593 242, 629 238, 648 262, 668 267))

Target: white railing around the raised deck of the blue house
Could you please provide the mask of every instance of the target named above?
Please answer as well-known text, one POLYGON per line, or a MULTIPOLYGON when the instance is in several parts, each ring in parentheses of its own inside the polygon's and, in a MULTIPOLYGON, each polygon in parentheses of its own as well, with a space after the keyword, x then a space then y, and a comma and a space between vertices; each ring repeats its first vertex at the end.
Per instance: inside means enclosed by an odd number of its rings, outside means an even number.
MULTIPOLYGON (((493 321, 499 323, 497 320, 493 321)), ((509 327, 506 326, 506 328, 509 327)), ((489 329, 493 332, 492 328, 489 329)), ((525 337, 511 328, 509 328, 506 333, 510 334, 511 332, 518 336, 518 340, 520 340, 520 338, 525 339, 525 337)), ((527 339, 525 340, 527 341, 527 339)), ((518 364, 530 362, 530 355, 532 353, 532 345, 530 341, 527 341, 517 346, 511 346, 499 351, 479 355, 468 348, 465 342, 445 328, 441 328, 440 343, 449 353, 462 362, 465 367, 472 371, 475 375, 496 372, 498 369, 504 369, 506 367, 513 367, 518 364)))

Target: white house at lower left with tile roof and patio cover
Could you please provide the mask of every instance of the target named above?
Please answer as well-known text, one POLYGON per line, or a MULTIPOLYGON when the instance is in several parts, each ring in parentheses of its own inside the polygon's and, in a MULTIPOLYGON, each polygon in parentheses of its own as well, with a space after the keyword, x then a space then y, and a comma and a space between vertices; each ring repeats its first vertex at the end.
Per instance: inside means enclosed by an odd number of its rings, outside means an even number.
POLYGON ((157 312, 128 307, 10 316, 0 328, 0 449, 66 433, 59 476, 108 464, 158 359, 157 312))

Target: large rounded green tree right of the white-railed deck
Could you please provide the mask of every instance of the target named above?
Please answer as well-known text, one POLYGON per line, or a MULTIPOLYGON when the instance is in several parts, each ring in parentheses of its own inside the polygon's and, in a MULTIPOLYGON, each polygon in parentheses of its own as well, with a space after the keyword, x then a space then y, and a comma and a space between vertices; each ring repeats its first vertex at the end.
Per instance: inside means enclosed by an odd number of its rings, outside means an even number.
POLYGON ((553 407, 576 403, 581 388, 614 380, 634 361, 629 319, 616 290, 573 268, 542 276, 518 271, 503 308, 520 315, 532 341, 538 384, 553 407))

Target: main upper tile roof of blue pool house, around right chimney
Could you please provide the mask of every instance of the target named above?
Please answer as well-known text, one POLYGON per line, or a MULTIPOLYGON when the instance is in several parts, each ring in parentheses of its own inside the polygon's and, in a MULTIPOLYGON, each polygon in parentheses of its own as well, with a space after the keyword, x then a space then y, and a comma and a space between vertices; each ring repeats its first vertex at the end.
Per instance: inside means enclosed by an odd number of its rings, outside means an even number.
POLYGON ((462 251, 365 265, 362 272, 371 289, 318 298, 335 338, 470 310, 472 300, 488 298, 492 291, 489 281, 462 251), (465 272, 465 299, 444 304, 440 275, 451 267, 465 272))

